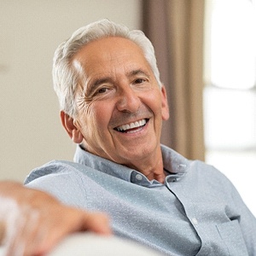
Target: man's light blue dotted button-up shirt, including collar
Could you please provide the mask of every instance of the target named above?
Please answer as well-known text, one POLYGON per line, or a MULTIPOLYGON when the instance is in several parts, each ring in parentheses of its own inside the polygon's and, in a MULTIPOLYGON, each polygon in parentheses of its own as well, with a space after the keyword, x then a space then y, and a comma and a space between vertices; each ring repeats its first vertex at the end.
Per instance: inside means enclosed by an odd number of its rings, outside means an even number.
POLYGON ((214 167, 161 145, 165 183, 77 148, 74 162, 53 160, 25 184, 63 203, 107 212, 117 236, 169 255, 256 255, 256 219, 214 167))

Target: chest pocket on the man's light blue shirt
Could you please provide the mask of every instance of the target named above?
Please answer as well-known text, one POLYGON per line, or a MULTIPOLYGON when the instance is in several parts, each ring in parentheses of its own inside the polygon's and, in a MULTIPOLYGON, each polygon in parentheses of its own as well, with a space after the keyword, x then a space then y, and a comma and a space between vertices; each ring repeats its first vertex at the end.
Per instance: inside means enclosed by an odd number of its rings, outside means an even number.
POLYGON ((220 237, 224 241, 224 244, 229 251, 229 255, 248 255, 247 247, 243 237, 241 236, 241 228, 237 219, 228 223, 218 224, 216 227, 220 237))

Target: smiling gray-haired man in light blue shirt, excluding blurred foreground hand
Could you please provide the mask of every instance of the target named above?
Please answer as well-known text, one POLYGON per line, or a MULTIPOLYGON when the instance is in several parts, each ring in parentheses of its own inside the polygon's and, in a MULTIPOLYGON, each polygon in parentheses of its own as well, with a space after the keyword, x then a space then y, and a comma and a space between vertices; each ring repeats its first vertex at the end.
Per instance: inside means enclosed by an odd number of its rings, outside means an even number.
POLYGON ((107 212, 116 236, 169 255, 256 255, 256 220, 224 175, 160 144, 166 89, 143 32, 100 20, 55 51, 61 121, 78 148, 26 187, 107 212))

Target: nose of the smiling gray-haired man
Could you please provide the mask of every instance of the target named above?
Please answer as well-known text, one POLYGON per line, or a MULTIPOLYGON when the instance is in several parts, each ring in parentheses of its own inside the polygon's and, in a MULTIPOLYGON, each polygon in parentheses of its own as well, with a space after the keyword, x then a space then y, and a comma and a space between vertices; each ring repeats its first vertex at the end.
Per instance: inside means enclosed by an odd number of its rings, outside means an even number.
POLYGON ((120 112, 136 113, 139 107, 140 99, 131 86, 127 85, 125 88, 119 88, 116 108, 120 112))

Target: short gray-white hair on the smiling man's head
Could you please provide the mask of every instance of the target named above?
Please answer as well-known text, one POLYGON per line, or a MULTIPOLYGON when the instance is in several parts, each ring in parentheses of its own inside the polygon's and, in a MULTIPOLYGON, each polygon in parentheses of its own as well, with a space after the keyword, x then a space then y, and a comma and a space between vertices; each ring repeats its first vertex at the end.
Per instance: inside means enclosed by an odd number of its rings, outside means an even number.
POLYGON ((75 92, 84 71, 73 66, 73 56, 85 44, 100 38, 120 37, 127 38, 143 49, 144 56, 152 68, 154 77, 161 86, 160 73, 156 64, 154 47, 142 31, 132 30, 110 20, 99 20, 73 32, 71 38, 63 42, 55 50, 53 60, 53 83, 58 96, 60 108, 71 117, 75 117, 75 92))

